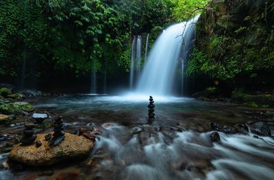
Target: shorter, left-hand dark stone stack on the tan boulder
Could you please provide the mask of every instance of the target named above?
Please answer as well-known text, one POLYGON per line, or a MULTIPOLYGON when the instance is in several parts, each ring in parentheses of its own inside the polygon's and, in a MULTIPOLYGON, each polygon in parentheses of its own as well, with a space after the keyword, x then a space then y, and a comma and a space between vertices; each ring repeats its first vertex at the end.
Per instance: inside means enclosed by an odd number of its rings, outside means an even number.
POLYGON ((34 134, 34 127, 36 127, 36 125, 34 125, 33 123, 25 123, 23 138, 21 138, 20 140, 23 146, 30 145, 36 140, 37 136, 34 134))

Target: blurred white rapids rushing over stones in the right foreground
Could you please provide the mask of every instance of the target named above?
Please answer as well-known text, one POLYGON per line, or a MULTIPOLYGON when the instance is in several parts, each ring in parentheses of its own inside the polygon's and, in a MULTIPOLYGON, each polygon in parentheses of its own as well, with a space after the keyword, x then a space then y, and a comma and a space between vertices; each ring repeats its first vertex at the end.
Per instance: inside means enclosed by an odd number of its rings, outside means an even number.
MULTIPOLYGON (((146 129, 145 126, 143 128, 146 129)), ((152 132, 153 136, 139 135, 125 141, 130 133, 126 127, 114 123, 104 129, 108 136, 100 136, 93 151, 103 149, 110 153, 112 166, 123 166, 123 179, 230 180, 274 177, 271 165, 274 161, 271 155, 273 139, 269 143, 264 137, 253 138, 253 134, 220 133, 221 141, 212 143, 212 132, 184 131, 176 133, 173 140, 164 135, 166 133, 152 132)), ((101 166, 105 164, 102 162, 101 166)))

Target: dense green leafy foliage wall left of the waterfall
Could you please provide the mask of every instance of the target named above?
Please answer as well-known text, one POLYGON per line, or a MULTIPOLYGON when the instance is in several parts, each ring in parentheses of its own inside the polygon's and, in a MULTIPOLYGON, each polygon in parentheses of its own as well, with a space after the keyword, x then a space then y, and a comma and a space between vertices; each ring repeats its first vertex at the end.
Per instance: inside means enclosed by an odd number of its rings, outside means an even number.
MULTIPOLYGON (((55 71, 88 76, 128 70, 134 34, 190 18, 206 1, 7 0, 0 2, 0 75, 55 71)), ((196 12, 197 13, 197 12, 196 12)))

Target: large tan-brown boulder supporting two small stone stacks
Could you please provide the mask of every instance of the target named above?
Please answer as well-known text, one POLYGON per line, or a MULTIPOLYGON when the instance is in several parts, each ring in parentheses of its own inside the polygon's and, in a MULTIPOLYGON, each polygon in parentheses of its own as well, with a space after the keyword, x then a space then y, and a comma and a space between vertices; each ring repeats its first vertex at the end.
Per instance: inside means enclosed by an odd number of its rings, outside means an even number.
POLYGON ((64 160, 87 157, 94 142, 71 133, 65 133, 66 138, 58 146, 50 146, 45 140, 47 134, 38 134, 36 140, 42 145, 21 146, 17 144, 10 152, 9 158, 29 166, 49 166, 64 160))

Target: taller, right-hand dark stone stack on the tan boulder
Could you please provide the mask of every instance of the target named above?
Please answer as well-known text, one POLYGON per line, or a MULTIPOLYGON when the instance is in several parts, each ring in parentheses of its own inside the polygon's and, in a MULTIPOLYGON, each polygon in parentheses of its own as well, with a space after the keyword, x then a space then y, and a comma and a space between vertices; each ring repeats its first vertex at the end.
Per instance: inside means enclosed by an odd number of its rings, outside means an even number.
POLYGON ((62 116, 59 116, 54 122, 53 138, 50 140, 51 146, 57 146, 64 140, 64 120, 62 116))

